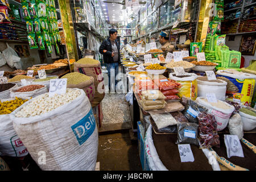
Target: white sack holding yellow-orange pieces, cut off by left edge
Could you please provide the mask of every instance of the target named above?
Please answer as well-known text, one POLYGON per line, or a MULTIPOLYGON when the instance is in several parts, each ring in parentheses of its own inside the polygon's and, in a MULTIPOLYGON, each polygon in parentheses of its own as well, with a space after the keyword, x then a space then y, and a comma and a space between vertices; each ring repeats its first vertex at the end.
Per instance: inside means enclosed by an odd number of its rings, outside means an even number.
MULTIPOLYGON (((15 100, 15 98, 3 99, 1 101, 5 102, 11 100, 15 100)), ((13 121, 10 119, 10 114, 0 114, 0 155, 22 157, 27 154, 26 147, 13 128, 13 121)))

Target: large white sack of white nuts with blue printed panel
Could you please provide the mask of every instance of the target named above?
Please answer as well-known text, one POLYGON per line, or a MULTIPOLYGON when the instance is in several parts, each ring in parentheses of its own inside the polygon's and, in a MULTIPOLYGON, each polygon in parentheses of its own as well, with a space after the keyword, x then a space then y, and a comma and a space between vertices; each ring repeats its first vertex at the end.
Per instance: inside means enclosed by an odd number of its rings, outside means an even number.
POLYGON ((14 130, 42 170, 95 170, 98 131, 82 89, 41 94, 11 113, 14 130))

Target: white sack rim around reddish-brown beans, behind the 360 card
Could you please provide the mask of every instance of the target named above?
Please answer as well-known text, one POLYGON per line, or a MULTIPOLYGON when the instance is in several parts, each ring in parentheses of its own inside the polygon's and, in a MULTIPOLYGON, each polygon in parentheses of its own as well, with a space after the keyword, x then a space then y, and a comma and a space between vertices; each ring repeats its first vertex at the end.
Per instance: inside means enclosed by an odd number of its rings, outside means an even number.
MULTIPOLYGON (((43 85, 43 84, 33 84, 33 85, 43 85)), ((15 92, 16 90, 22 88, 23 86, 18 86, 10 90, 10 97, 36 97, 40 94, 48 92, 47 86, 43 85, 42 88, 33 90, 31 92, 15 92)))

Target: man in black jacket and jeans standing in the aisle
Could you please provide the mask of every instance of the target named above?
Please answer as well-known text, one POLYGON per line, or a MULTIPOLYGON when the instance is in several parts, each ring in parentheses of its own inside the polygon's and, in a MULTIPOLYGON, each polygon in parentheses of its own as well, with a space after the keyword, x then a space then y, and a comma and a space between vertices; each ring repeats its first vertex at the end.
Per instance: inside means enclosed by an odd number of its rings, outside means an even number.
MULTIPOLYGON (((120 45, 117 42, 117 30, 109 30, 109 38, 104 40, 100 46, 100 53, 103 55, 104 63, 108 69, 109 88, 110 88, 110 69, 115 69, 115 77, 118 75, 118 65, 120 63, 120 45)), ((115 86, 117 80, 115 80, 115 86)))

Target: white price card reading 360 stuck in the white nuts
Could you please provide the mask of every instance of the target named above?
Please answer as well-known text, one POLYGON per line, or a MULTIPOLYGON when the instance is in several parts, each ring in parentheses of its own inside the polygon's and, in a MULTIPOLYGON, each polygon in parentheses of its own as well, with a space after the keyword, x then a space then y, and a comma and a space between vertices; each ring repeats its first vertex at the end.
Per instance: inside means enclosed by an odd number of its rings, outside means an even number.
POLYGON ((49 82, 49 97, 66 93, 67 78, 51 79, 49 82))

